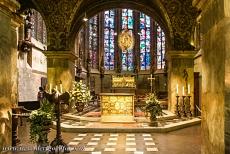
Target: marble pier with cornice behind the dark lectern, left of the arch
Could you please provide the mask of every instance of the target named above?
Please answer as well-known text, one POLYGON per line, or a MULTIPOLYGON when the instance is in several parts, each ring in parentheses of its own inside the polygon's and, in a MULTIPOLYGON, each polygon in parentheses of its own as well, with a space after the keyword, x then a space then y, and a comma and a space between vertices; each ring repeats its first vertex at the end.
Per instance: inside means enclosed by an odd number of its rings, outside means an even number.
POLYGON ((46 51, 47 56, 47 79, 49 90, 50 84, 52 88, 60 90, 60 82, 63 86, 63 91, 69 91, 72 86, 72 81, 75 80, 75 62, 77 58, 71 51, 46 51))

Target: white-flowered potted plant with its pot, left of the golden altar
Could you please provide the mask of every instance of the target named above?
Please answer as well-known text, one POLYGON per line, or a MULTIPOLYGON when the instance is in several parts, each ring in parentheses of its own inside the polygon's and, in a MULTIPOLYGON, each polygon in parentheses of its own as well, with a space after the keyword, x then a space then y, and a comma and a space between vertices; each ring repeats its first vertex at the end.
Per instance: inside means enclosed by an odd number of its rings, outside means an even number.
POLYGON ((70 91, 70 101, 75 103, 75 107, 78 112, 82 112, 85 105, 91 100, 90 90, 82 82, 74 81, 73 88, 70 91))

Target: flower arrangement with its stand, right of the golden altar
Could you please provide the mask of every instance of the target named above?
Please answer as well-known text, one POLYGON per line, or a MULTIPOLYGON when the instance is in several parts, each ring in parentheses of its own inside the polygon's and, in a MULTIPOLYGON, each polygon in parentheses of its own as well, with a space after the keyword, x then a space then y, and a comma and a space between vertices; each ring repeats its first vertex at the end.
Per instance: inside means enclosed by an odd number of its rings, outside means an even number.
POLYGON ((154 93, 150 93, 146 97, 146 104, 144 107, 145 116, 150 115, 150 126, 158 126, 157 116, 162 115, 162 108, 157 96, 154 93))

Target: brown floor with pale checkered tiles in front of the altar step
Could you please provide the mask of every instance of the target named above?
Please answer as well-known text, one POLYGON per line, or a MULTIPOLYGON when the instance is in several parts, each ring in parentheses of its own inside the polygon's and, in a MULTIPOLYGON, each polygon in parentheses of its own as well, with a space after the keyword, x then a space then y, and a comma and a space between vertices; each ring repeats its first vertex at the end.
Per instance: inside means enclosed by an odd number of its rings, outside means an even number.
MULTIPOLYGON (((56 131, 49 133, 49 142, 56 131)), ((25 151, 17 154, 33 153, 35 147, 29 141, 27 122, 19 127, 18 137, 25 151), (26 149, 29 149, 26 151, 26 149)), ((170 133, 62 133, 73 154, 200 154, 200 125, 191 126, 170 133)))

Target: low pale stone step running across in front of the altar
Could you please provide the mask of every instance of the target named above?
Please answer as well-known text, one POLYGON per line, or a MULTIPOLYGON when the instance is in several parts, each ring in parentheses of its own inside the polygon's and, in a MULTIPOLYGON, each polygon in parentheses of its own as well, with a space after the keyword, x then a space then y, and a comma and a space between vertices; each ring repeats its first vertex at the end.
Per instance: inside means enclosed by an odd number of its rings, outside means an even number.
MULTIPOLYGON (((149 123, 101 123, 64 120, 61 123, 63 132, 73 133, 167 133, 178 129, 198 125, 200 118, 173 119, 160 121, 159 127, 150 127, 149 123)), ((53 122, 56 128, 56 122, 53 122)))

